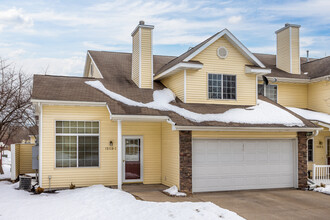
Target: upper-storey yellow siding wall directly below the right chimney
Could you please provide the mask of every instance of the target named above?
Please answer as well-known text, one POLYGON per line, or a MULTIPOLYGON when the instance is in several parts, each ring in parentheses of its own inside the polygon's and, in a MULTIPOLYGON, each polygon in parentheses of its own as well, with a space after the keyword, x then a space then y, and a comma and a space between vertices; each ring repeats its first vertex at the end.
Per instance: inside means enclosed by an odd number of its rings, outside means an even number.
POLYGON ((307 84, 276 83, 277 102, 283 106, 307 108, 307 84))

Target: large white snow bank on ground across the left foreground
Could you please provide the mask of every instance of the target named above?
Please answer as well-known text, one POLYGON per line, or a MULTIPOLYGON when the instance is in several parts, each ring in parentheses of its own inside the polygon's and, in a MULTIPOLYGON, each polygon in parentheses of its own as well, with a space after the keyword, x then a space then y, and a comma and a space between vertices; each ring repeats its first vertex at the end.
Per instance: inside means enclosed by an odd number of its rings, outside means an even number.
POLYGON ((211 202, 146 202, 95 185, 57 194, 30 195, 18 183, 0 182, 3 219, 243 219, 211 202))

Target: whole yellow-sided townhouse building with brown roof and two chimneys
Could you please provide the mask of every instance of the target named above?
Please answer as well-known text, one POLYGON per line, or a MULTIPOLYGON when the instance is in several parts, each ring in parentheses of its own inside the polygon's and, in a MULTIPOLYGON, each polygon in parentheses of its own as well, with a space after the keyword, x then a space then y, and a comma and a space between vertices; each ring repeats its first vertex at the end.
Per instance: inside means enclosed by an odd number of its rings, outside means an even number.
POLYGON ((299 26, 277 32, 277 63, 227 29, 179 57, 153 55, 153 28, 140 22, 132 53, 88 51, 83 77, 34 76, 42 187, 306 187, 307 139, 329 131, 282 105, 329 113, 315 100, 330 86, 313 67, 322 60, 301 61, 299 26))

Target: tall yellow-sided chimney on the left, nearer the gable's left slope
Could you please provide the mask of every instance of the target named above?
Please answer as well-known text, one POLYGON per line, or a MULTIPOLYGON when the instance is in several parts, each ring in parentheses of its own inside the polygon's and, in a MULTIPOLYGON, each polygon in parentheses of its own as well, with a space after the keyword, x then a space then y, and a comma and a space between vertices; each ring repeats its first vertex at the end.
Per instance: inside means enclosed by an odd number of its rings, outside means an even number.
POLYGON ((132 80, 139 88, 153 88, 153 25, 140 21, 132 32, 132 80))

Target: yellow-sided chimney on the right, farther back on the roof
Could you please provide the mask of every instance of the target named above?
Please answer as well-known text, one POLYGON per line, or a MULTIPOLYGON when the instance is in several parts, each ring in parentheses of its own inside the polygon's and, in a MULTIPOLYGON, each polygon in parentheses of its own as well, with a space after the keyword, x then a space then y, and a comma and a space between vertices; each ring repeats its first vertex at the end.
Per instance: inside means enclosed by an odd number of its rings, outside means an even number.
POLYGON ((276 33, 276 67, 300 74, 299 28, 297 24, 285 24, 276 33))

